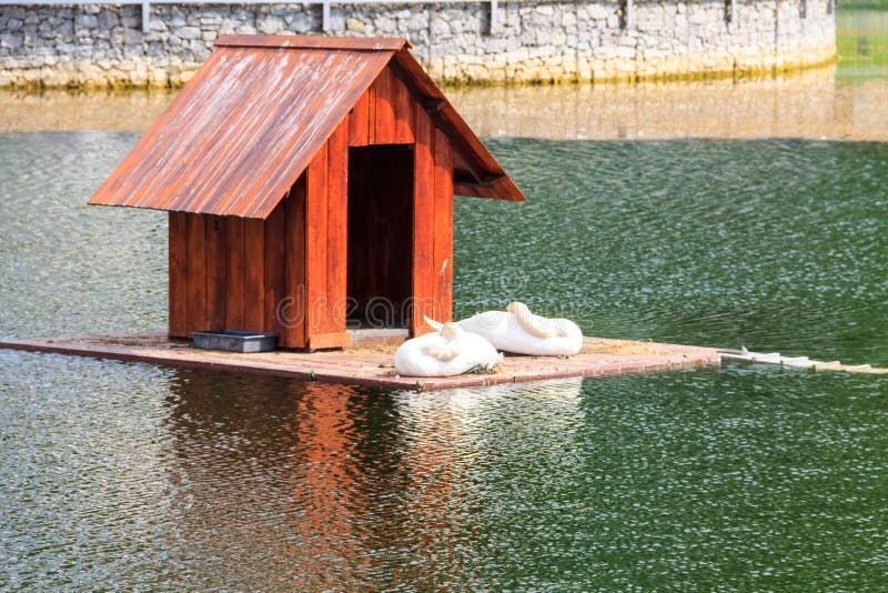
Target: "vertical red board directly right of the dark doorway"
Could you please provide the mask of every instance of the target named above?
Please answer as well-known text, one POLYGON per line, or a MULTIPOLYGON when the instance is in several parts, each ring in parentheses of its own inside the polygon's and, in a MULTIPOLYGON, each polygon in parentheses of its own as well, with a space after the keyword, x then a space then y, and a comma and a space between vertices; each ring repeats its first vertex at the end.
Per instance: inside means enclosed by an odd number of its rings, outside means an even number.
MULTIPOLYGON (((430 328, 423 315, 432 316, 435 300, 434 290, 434 138, 432 119, 415 103, 415 155, 413 195, 413 311, 411 331, 414 335, 430 328)), ((448 320, 443 320, 448 321, 448 320)))

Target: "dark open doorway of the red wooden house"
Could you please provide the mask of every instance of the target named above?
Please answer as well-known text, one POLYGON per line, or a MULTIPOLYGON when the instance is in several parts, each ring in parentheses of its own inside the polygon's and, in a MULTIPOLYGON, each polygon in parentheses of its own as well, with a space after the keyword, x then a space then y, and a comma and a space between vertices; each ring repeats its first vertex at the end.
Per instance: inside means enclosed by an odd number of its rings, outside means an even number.
POLYGON ((413 145, 349 149, 349 329, 405 328, 413 267, 413 145))

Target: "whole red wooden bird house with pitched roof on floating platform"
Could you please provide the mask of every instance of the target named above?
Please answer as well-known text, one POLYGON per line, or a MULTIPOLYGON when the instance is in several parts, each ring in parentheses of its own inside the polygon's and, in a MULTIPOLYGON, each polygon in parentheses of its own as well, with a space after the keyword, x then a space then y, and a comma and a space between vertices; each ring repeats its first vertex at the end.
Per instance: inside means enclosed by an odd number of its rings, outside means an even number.
POLYGON ((91 204, 169 211, 171 336, 451 315, 454 194, 524 195, 403 39, 224 36, 91 204))

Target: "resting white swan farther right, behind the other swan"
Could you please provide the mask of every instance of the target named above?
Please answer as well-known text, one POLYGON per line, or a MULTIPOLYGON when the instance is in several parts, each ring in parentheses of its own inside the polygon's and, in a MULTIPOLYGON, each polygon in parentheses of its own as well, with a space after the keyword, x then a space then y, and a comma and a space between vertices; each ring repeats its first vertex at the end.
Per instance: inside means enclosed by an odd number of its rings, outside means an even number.
POLYGON ((571 320, 534 315, 527 305, 509 303, 505 311, 486 311, 458 322, 483 335, 494 348, 513 354, 571 356, 583 349, 583 332, 571 320))

